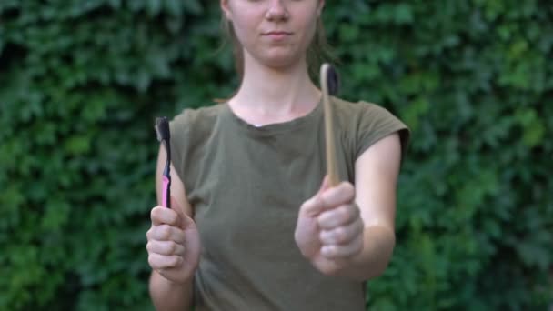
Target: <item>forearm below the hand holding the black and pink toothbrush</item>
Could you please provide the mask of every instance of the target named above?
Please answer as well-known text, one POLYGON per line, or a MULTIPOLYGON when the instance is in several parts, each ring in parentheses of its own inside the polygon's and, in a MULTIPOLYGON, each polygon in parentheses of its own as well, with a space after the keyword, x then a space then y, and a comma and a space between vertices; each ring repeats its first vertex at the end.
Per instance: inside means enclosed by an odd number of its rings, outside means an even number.
POLYGON ((192 305, 193 282, 179 284, 167 280, 165 277, 152 271, 150 276, 150 296, 158 311, 184 311, 192 305))

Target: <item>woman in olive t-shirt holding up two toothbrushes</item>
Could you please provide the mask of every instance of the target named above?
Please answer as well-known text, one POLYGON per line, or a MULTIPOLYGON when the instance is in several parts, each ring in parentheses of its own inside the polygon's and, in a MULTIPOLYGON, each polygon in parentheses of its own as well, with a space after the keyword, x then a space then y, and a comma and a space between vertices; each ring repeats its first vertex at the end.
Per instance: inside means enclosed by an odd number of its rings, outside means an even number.
POLYGON ((407 127, 377 105, 334 98, 344 182, 329 186, 321 92, 307 65, 324 0, 220 5, 242 81, 226 103, 171 122, 173 208, 154 207, 146 234, 154 304, 362 310, 363 282, 382 274, 395 245, 407 127))

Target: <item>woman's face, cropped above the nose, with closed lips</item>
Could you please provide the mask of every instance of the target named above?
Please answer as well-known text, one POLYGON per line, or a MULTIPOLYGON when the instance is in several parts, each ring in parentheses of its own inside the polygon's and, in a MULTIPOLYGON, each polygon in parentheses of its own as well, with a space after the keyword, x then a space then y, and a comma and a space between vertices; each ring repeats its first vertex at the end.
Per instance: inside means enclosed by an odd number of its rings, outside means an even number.
POLYGON ((324 0, 221 0, 245 53, 272 67, 304 60, 324 0))

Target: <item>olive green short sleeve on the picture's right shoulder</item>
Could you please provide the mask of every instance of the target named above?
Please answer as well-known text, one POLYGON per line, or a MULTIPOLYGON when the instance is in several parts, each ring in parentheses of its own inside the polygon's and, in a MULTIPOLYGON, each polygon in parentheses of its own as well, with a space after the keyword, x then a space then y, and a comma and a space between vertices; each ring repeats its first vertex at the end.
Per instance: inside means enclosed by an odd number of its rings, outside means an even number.
POLYGON ((397 133, 401 142, 402 162, 407 153, 410 131, 397 116, 392 115, 386 108, 370 103, 363 105, 363 111, 357 125, 356 159, 378 140, 397 133))

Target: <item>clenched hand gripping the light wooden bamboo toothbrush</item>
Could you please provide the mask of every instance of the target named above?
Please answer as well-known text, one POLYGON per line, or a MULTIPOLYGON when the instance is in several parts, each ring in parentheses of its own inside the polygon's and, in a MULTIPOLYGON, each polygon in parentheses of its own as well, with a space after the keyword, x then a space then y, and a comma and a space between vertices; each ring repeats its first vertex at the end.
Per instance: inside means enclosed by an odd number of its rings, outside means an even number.
POLYGON ((300 207, 296 244, 326 275, 337 275, 363 250, 365 226, 354 200, 351 183, 331 187, 326 177, 317 195, 300 207))

